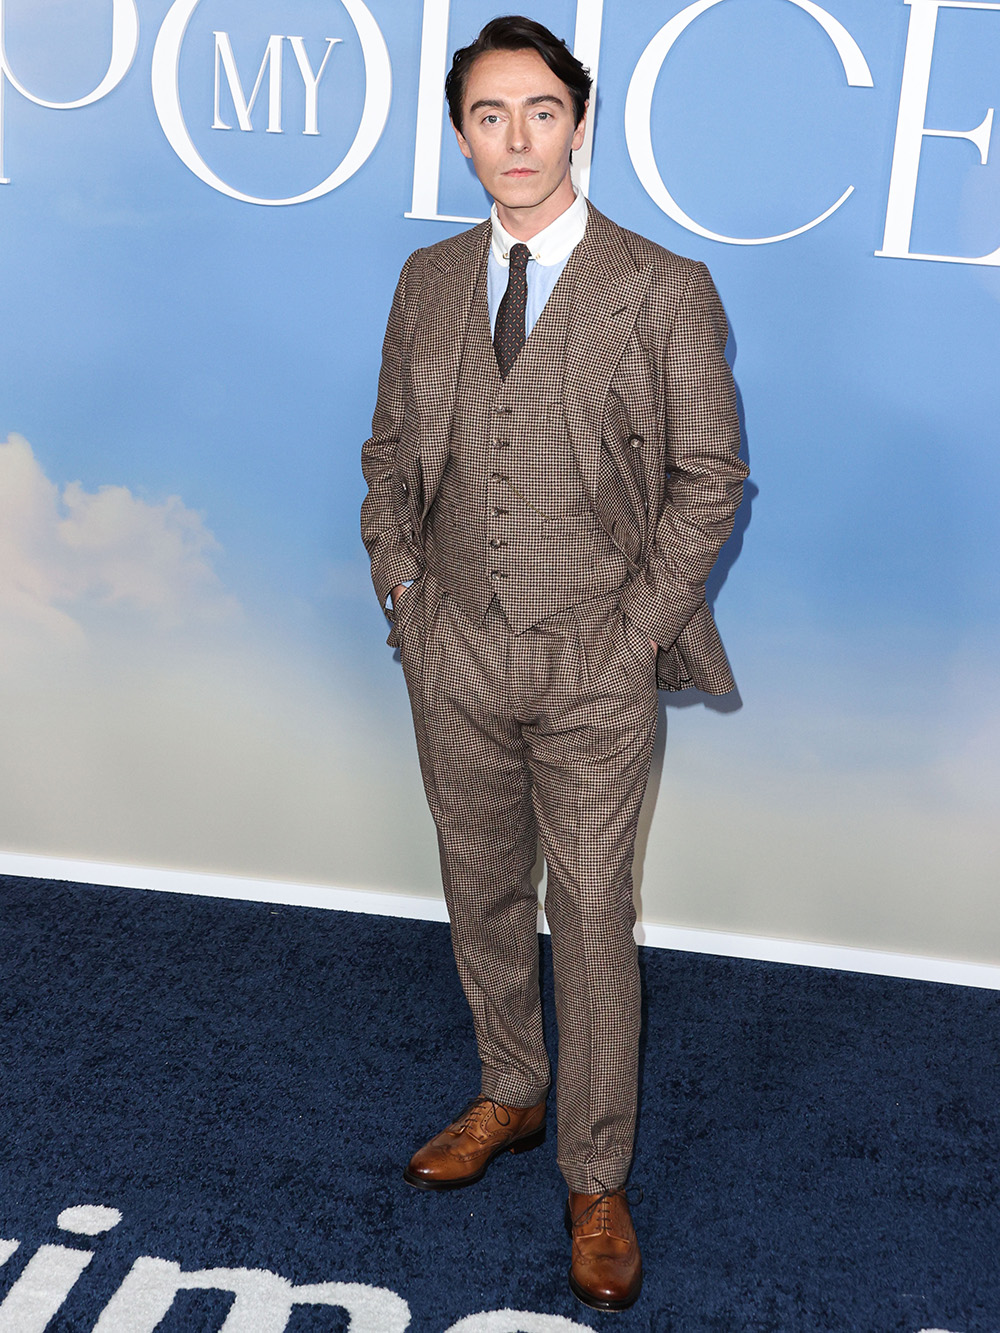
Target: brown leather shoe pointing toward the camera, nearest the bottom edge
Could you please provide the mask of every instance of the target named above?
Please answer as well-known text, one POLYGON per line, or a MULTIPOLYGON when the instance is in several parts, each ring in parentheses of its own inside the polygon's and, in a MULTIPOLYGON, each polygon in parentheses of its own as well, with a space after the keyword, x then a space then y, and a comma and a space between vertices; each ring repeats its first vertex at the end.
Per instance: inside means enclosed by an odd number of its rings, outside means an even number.
POLYGON ((643 1289, 632 1214, 624 1189, 569 1192, 567 1230, 573 1241, 569 1290, 593 1310, 627 1310, 643 1289))

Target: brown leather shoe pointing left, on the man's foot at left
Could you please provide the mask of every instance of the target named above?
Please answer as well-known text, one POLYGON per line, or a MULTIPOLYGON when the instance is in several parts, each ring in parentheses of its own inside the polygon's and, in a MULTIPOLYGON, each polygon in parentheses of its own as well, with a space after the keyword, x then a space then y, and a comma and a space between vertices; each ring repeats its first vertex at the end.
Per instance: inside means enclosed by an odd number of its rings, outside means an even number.
POLYGON ((544 1101, 504 1106, 476 1097, 457 1120, 413 1153, 403 1178, 416 1189, 461 1189, 481 1180, 500 1153, 527 1153, 544 1138, 544 1101))

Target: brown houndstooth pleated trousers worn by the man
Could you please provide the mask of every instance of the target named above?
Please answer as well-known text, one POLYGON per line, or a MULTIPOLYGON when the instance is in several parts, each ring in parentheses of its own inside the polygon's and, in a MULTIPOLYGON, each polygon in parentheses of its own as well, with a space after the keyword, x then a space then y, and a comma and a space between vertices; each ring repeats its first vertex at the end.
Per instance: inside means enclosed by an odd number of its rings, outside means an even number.
POLYGON ((549 1081, 539 1002, 537 840, 559 1020, 559 1164, 571 1189, 624 1184, 640 990, 636 821, 656 730, 653 655, 616 593, 515 635, 428 573, 400 608, 403 668, 437 826, 481 1090, 535 1105, 549 1081))

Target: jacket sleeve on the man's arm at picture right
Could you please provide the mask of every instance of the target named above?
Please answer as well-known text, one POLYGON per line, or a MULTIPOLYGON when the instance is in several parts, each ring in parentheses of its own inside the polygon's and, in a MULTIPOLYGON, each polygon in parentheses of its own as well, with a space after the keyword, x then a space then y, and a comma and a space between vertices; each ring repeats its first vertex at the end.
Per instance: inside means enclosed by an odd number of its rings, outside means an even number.
POLYGON ((705 600, 705 580, 743 497, 728 323, 704 264, 695 264, 664 349, 667 481, 645 567, 621 609, 669 648, 705 600))

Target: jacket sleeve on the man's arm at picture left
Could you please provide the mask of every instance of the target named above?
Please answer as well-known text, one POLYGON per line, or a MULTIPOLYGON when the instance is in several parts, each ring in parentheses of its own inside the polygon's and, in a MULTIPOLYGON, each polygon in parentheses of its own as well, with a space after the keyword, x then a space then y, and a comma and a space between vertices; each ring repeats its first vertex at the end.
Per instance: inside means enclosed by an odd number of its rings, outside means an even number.
MULTIPOLYGON (((407 283, 416 255, 403 265, 381 351, 379 397, 372 433, 361 445, 361 472, 368 495, 361 505, 361 540, 372 561, 372 583, 383 611, 388 596, 401 583, 424 572, 413 535, 407 484, 397 465, 404 415, 404 363, 407 337, 407 283)), ((412 336, 412 335, 411 335, 412 336)), ((387 611, 389 620, 392 616, 387 611)))

